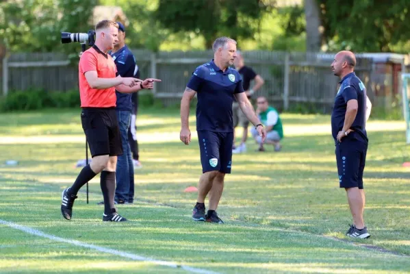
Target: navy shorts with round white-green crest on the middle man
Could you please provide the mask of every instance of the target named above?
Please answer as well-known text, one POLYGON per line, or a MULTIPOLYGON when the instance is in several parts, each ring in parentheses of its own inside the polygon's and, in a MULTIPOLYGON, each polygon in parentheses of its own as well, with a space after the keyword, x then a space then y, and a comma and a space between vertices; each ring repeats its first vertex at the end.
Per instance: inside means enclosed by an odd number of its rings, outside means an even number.
POLYGON ((233 132, 198 131, 202 172, 231 173, 233 132))

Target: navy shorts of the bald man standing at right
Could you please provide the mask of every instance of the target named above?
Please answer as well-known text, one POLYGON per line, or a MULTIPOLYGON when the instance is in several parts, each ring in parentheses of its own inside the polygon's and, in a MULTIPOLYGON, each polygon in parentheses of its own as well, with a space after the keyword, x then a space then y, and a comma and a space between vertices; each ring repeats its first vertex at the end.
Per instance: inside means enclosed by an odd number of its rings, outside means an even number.
POLYGON ((355 138, 345 137, 337 142, 335 153, 341 188, 363 189, 367 151, 368 144, 355 138))

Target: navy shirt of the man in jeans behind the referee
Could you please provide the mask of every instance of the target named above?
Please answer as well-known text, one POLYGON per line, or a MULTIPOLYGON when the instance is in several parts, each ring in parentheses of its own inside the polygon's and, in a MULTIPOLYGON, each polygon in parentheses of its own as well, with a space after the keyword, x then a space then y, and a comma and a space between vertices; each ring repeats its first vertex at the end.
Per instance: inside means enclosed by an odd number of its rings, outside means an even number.
MULTIPOLYGON (((110 53, 121 77, 133 77, 138 71, 136 59, 127 46, 124 46, 115 53, 110 53)), ((132 110, 132 93, 121 93, 116 91, 116 110, 132 110)))

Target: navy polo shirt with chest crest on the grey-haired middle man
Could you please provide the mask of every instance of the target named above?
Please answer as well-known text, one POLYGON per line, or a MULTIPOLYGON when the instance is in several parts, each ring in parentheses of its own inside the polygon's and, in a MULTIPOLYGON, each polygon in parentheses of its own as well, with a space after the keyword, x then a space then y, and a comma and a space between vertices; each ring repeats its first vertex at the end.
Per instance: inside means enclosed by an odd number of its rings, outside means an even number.
POLYGON ((238 71, 224 72, 212 60, 196 68, 187 86, 198 96, 196 130, 233 132, 233 95, 244 92, 238 71))

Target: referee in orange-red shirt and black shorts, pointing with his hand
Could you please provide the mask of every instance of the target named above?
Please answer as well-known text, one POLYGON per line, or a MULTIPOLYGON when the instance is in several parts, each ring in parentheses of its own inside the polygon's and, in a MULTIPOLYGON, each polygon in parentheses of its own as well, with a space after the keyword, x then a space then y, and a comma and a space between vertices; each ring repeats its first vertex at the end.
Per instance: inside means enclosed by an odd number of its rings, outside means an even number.
POLYGON ((107 51, 118 42, 118 24, 103 20, 95 27, 94 46, 81 55, 79 61, 79 92, 81 99, 81 125, 86 134, 92 162, 79 173, 73 186, 62 192, 61 212, 71 220, 77 192, 101 172, 100 185, 104 197, 103 221, 127 221, 114 206, 115 172, 117 155, 123 153, 118 120, 115 112, 116 92, 131 93, 143 88, 152 89, 159 79, 120 77, 112 57, 107 51))

